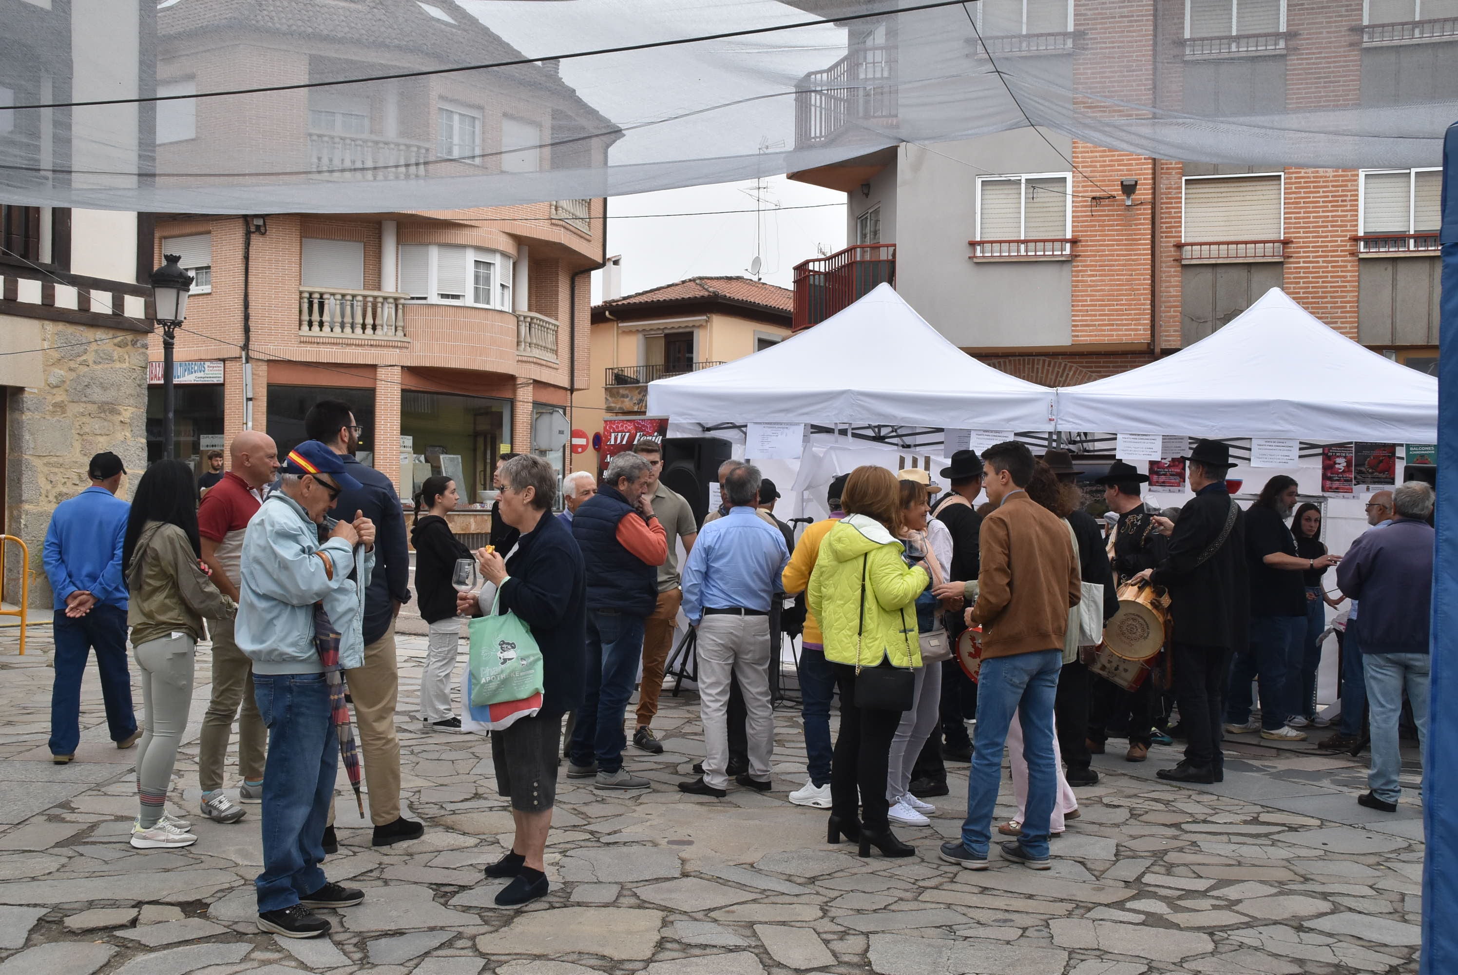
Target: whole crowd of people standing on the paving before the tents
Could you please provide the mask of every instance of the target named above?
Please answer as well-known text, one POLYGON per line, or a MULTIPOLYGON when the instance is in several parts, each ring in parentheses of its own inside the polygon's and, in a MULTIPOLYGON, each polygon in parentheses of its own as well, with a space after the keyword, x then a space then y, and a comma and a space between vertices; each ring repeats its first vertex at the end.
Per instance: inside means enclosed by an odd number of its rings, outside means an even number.
MULTIPOLYGON (((166 797, 195 647, 211 639, 198 812, 236 823, 243 806, 260 806, 258 925, 286 937, 325 934, 330 921, 313 909, 364 896, 321 868, 338 849, 341 760, 356 782, 354 763, 363 765, 373 845, 424 832, 399 804, 395 617, 411 598, 404 511, 389 479, 356 460, 360 426, 347 404, 318 403, 305 426, 309 439, 283 458, 267 435, 239 433, 226 473, 208 458, 217 477, 200 504, 192 470, 159 461, 128 505, 118 496, 121 460, 98 454, 92 486, 57 508, 45 542, 55 594, 52 760, 74 759, 80 677, 95 650, 111 737, 139 749, 131 845, 197 842, 166 797), (235 718, 236 803, 223 791, 235 718)), ((1321 724, 1325 607, 1350 598, 1341 727, 1322 744, 1360 744, 1369 712, 1371 788, 1359 801, 1394 810, 1404 692, 1426 736, 1432 489, 1413 482, 1372 495, 1373 527, 1337 556, 1321 542, 1321 509, 1296 508, 1293 479, 1273 477, 1247 511, 1226 488, 1225 444, 1201 441, 1185 460, 1194 498, 1174 517, 1145 504, 1147 477, 1115 461, 1096 479, 1111 512, 1105 527, 1085 511, 1066 451, 1034 457, 1016 441, 981 455, 956 451, 940 470, 945 492, 927 470, 857 467, 833 480, 830 517, 796 542, 773 514, 779 490, 742 461, 720 467, 722 504, 700 524, 660 482, 656 439, 614 455, 601 482, 566 477, 555 515, 551 464, 507 454, 493 473, 490 544, 474 553, 448 520, 458 485, 426 479, 408 533, 429 626, 421 727, 461 731, 452 689, 462 617, 513 613, 542 657, 535 714, 491 731, 497 788, 515 823, 510 849, 486 868, 509 882, 496 902, 515 906, 550 889, 544 852, 564 758, 566 776, 595 790, 650 788, 624 753, 630 743, 663 752, 653 718, 679 616, 694 644, 704 737, 704 758, 679 790, 774 788, 773 668, 783 633, 798 631, 806 781, 787 798, 828 810, 830 844, 854 842, 863 857, 913 855, 892 826, 929 825, 936 807, 926 800, 948 795, 948 763, 965 762, 965 822, 939 854, 987 868, 1007 747, 1016 814, 996 825, 1010 838, 999 852, 1045 870, 1050 841, 1079 816, 1075 788, 1098 782, 1092 756, 1111 734, 1127 737, 1130 762, 1147 760, 1156 741, 1185 739, 1184 759, 1158 775, 1203 784, 1223 778, 1226 734, 1290 741, 1321 724), (456 591, 462 560, 474 560, 480 588, 456 591), (1333 566, 1337 591, 1322 582, 1333 566), (1169 600, 1165 648, 1133 686, 1096 667, 1124 587, 1156 587, 1169 600), (975 685, 952 652, 959 641, 977 647, 975 685)))

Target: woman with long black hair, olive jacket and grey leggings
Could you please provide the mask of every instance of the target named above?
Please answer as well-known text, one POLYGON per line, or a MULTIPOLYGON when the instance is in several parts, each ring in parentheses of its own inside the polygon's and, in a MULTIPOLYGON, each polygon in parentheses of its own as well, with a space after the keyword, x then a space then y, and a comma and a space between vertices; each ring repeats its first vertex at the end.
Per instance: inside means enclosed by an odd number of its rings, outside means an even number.
POLYGON ((187 464, 163 460, 149 467, 137 485, 121 550, 127 623, 146 711, 137 746, 140 810, 131 826, 137 849, 197 842, 185 820, 168 816, 168 787, 192 702, 192 648, 203 638, 203 619, 232 619, 238 612, 200 560, 195 498, 197 480, 187 464))

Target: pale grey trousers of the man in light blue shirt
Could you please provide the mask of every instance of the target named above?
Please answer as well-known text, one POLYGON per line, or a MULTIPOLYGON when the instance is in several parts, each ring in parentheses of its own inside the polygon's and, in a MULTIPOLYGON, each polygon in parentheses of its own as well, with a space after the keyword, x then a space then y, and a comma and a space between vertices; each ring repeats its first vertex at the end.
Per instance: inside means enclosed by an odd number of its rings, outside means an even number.
POLYGON ((704 725, 704 784, 729 784, 729 677, 744 693, 749 775, 770 781, 774 711, 770 708, 770 617, 704 616, 698 622, 698 712, 704 725))

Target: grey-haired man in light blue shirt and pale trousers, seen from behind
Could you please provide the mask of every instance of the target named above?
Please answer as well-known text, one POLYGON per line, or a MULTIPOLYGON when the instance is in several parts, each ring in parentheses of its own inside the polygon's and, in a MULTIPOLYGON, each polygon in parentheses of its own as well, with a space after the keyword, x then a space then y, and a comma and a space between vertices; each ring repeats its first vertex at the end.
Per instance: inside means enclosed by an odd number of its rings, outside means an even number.
POLYGON ((698 628, 698 708, 704 725, 704 774, 678 788, 726 794, 729 785, 729 682, 744 692, 749 771, 735 781, 770 788, 774 712, 770 708, 770 600, 790 560, 784 537, 760 518, 760 470, 748 464, 723 479, 729 514, 706 521, 684 563, 684 616, 698 628))

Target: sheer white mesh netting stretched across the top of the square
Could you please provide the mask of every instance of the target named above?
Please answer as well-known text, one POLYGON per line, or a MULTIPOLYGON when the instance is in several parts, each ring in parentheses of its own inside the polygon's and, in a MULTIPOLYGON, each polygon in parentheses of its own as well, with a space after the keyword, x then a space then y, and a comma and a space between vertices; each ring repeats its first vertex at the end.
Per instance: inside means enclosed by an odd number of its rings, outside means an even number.
POLYGON ((1028 124, 1166 159, 1426 166, 1458 118, 1458 0, 0 0, 0 200, 25 204, 570 201, 1028 124))

